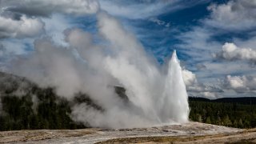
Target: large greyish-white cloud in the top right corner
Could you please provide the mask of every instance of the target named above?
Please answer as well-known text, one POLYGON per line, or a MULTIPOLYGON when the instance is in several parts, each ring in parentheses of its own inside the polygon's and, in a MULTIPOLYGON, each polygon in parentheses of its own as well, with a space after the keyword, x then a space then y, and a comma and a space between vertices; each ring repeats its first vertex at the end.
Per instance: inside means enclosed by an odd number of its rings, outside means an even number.
POLYGON ((256 1, 231 0, 224 4, 208 7, 210 18, 206 25, 225 30, 250 30, 256 27, 256 1))

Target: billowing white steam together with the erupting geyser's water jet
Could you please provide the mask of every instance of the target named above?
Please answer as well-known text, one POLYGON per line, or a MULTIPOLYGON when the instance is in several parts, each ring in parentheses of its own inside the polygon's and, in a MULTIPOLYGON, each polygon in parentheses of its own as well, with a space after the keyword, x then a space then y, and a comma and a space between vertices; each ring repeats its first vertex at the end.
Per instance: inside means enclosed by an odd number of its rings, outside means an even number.
POLYGON ((123 128, 187 122, 186 86, 176 52, 163 71, 110 15, 98 14, 98 32, 108 46, 95 45, 90 34, 78 29, 65 31, 68 47, 56 46, 50 38, 39 39, 34 54, 19 59, 14 72, 40 86, 56 87, 57 93, 67 99, 78 92, 89 94, 104 111, 77 104, 72 107, 71 118, 90 126, 123 128), (74 51, 79 55, 74 56, 74 51), (126 88, 130 102, 118 97, 116 85, 126 88))

